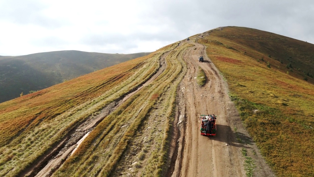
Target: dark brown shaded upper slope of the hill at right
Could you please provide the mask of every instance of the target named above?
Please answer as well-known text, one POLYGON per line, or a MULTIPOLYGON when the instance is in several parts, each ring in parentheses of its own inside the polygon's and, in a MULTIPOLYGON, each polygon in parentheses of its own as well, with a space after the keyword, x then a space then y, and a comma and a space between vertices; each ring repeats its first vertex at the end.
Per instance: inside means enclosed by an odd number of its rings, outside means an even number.
POLYGON ((232 47, 252 59, 269 62, 284 73, 289 71, 291 76, 307 77, 310 83, 314 83, 314 47, 311 43, 245 27, 230 26, 219 32, 208 32, 224 41, 218 45, 232 47))

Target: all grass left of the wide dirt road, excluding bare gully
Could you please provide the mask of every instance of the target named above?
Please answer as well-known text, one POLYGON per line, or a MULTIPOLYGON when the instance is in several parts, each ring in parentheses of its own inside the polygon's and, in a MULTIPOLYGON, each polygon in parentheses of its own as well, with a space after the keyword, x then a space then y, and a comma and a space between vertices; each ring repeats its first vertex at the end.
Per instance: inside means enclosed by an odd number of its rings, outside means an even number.
MULTIPOLYGON (((178 43, 175 43, 147 56, 1 103, 0 176, 25 175, 29 168, 33 167, 32 164, 39 163, 58 143, 66 140, 79 124, 146 82, 159 69, 161 55, 177 45, 178 43)), ((180 50, 166 58, 167 67, 162 77, 141 89, 106 117, 65 163, 64 167, 68 169, 64 171, 62 168, 56 173, 69 176, 86 172, 110 174, 127 147, 127 142, 133 137, 142 120, 147 118, 156 102, 160 103, 160 99, 166 101, 168 104, 164 105, 160 113, 171 116, 176 87, 184 74, 182 61, 176 59, 179 54, 180 50), (166 94, 163 94, 164 92, 166 94), (125 124, 125 121, 129 122, 129 127, 119 133, 119 127, 125 124), (102 141, 104 138, 106 141, 102 141), (93 148, 88 148, 91 143, 93 148), (95 146, 95 143, 99 145, 95 146), (110 154, 114 152, 112 156, 101 155, 106 146, 110 146, 110 154), (92 164, 83 165, 85 161, 90 160, 92 164), (87 167, 89 170, 86 170, 87 167)), ((165 127, 162 133, 155 137, 158 139, 159 148, 152 149, 155 152, 151 160, 160 157, 156 162, 160 166, 155 168, 156 174, 160 173, 165 160, 167 150, 164 148, 170 124, 171 121, 167 119, 163 124, 165 127)))

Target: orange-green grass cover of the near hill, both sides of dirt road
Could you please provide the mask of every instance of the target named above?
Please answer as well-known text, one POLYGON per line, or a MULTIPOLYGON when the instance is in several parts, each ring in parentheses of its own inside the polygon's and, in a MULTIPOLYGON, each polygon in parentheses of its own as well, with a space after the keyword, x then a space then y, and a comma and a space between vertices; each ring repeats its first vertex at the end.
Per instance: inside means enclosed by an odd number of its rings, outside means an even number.
MULTIPOLYGON (((222 27, 201 35, 195 35, 200 37, 198 43, 206 46, 208 57, 228 82, 242 122, 275 173, 280 177, 314 176, 314 85, 310 77, 314 45, 243 27, 222 27)), ((41 169, 37 164, 45 166, 45 159, 56 157, 51 153, 58 153, 62 142, 71 140, 75 132, 87 133, 79 125, 111 104, 116 108, 72 156, 61 158, 60 168, 51 168, 49 173, 118 176, 125 169, 132 175, 165 176, 171 166, 168 156, 177 86, 189 67, 183 55, 192 47, 177 42, 0 103, 0 176, 34 176, 38 171, 32 169, 41 169), (160 75, 118 105, 116 101, 148 81, 161 66, 160 75)))

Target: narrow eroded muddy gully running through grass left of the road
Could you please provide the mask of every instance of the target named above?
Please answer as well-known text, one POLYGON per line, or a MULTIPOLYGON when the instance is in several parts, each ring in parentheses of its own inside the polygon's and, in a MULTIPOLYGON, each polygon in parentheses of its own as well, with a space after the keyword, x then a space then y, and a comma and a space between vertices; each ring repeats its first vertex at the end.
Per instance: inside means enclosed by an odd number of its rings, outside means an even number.
POLYGON ((75 130, 71 132, 64 140, 51 152, 47 158, 43 159, 34 168, 32 168, 25 176, 36 177, 48 177, 58 169, 63 162, 73 153, 73 151, 79 146, 79 142, 83 141, 83 138, 87 136, 107 115, 114 111, 118 106, 124 103, 130 96, 136 94, 145 85, 152 82, 158 77, 166 67, 165 56, 169 54, 165 53, 160 58, 160 68, 147 82, 143 83, 135 91, 127 94, 123 99, 117 100, 103 108, 101 111, 94 113, 84 123, 79 125, 75 130), (53 155, 55 154, 55 155, 53 155), (44 162, 46 161, 46 162, 44 162))

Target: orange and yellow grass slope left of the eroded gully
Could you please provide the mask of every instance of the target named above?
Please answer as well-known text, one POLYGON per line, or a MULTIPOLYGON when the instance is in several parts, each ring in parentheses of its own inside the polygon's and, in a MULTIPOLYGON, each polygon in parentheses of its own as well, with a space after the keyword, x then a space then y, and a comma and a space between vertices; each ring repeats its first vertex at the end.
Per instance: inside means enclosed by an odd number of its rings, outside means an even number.
MULTIPOLYGON (((0 175, 18 175, 76 125, 147 81, 157 72, 158 59, 164 52, 161 50, 0 104, 0 166, 3 166, 0 175), (10 156, 12 158, 4 158, 10 156)), ((95 132, 97 128, 91 134, 95 132)))

